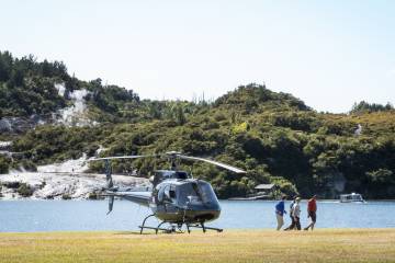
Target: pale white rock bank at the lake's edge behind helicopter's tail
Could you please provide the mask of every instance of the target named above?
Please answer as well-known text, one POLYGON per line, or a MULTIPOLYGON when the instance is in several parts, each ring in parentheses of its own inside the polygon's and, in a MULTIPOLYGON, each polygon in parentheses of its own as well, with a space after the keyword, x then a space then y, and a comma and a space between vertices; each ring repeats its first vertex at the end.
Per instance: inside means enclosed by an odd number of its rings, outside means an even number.
MULTIPOLYGON (((9 174, 0 174, 0 182, 26 183, 34 188, 30 198, 55 198, 63 195, 71 198, 87 198, 90 193, 100 192, 106 187, 105 174, 83 173, 88 169, 87 156, 77 160, 37 167, 37 172, 26 172, 23 169, 13 170, 9 174)), ((149 187, 147 179, 125 175, 113 176, 114 184, 120 188, 149 187)), ((21 198, 16 190, 2 187, 3 198, 21 198)))

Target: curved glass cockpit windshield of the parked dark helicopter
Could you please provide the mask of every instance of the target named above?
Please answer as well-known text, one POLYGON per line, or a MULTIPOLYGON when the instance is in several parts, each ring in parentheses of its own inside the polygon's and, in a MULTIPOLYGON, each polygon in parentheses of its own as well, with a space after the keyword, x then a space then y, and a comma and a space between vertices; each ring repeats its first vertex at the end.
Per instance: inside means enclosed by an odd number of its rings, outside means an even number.
POLYGON ((203 181, 181 184, 177 192, 181 206, 218 203, 212 186, 203 181))

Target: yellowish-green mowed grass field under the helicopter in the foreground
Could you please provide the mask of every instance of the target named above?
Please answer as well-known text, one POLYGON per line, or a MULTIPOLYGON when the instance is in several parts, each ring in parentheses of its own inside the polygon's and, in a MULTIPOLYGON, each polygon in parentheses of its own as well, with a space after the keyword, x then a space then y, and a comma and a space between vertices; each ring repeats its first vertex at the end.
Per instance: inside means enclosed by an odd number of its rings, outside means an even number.
POLYGON ((0 233, 0 262, 395 262, 395 229, 0 233))

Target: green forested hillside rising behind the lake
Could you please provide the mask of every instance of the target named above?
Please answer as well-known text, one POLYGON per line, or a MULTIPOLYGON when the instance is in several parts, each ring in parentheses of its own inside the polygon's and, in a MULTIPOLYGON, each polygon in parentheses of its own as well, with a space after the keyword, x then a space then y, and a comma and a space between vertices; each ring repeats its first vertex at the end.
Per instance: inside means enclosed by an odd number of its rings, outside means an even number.
MULTIPOLYGON (((0 173, 93 156, 100 147, 105 149, 102 156, 178 150, 248 171, 239 175, 193 164, 193 175, 212 182, 223 198, 249 194, 260 183, 278 184, 278 194, 306 197, 350 192, 395 197, 391 104, 361 102, 350 114, 324 114, 259 84, 238 87, 214 102, 140 100, 132 90, 103 85, 100 79, 78 80, 63 62, 1 53, 0 124, 18 125, 15 119, 32 116, 41 122, 27 129, 3 125, 0 140, 12 140, 9 150, 21 153, 0 157, 0 173), (71 122, 65 118, 70 112, 71 122)), ((137 168, 147 175, 161 164, 150 159, 116 162, 114 170, 137 168)))

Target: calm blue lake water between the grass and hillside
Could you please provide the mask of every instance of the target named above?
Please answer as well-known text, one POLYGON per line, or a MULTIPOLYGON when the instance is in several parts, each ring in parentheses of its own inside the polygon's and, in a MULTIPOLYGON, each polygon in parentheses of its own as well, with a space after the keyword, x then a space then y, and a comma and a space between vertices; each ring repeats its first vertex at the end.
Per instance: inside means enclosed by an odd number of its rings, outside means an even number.
MULTIPOLYGON (((208 224, 224 229, 274 228, 271 201, 222 201, 219 219, 208 224)), ((286 203, 289 207, 290 203, 286 203)), ((302 227, 308 224, 302 201, 302 227)), ((340 204, 317 202, 317 228, 395 228, 395 202, 340 204)), ((149 209, 126 201, 115 201, 105 215, 106 201, 0 201, 0 231, 138 230, 149 209)), ((156 219, 147 221, 157 226, 156 219)), ((290 218, 285 216, 285 225, 290 218)))

